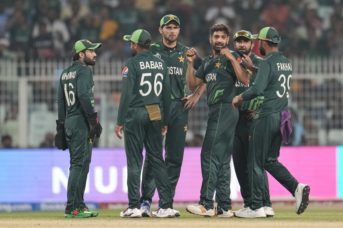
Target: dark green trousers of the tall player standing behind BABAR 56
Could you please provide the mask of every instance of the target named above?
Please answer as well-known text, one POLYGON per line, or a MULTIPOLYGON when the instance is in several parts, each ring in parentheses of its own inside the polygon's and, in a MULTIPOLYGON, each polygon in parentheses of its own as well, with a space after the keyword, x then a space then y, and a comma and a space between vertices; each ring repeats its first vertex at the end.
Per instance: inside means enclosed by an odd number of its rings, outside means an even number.
MULTIPOLYGON (((184 109, 186 101, 171 100, 169 125, 165 141, 165 161, 171 190, 171 199, 174 199, 175 189, 180 177, 182 160, 184 158, 185 141, 188 123, 188 109, 184 109)), ((163 139, 163 138, 162 138, 163 139)), ((145 156, 142 176, 142 197, 151 203, 155 194, 155 180, 152 173, 149 156, 145 156)))

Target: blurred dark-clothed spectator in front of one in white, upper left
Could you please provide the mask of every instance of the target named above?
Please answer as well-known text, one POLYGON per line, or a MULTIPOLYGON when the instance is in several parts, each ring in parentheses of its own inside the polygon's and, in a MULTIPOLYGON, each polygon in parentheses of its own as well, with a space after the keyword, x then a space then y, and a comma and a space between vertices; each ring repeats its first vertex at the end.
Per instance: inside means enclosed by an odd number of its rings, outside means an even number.
POLYGON ((44 22, 39 22, 39 34, 36 38, 32 39, 31 43, 31 59, 46 59, 55 57, 52 34, 47 31, 46 24, 44 22))

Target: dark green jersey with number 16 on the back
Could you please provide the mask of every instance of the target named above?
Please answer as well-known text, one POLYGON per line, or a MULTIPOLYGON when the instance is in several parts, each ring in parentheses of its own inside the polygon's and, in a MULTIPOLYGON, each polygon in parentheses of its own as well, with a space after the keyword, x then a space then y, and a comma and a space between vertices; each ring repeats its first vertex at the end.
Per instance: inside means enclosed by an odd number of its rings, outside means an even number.
POLYGON ((91 68, 74 62, 60 77, 57 93, 58 119, 65 128, 88 129, 85 114, 94 113, 94 79, 91 68))

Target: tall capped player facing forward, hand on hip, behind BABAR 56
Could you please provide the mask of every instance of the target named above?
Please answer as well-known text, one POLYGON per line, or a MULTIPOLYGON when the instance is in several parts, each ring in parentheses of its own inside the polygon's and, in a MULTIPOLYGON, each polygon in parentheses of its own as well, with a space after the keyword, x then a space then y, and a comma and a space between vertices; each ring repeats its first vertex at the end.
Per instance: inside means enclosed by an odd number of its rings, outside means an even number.
MULTIPOLYGON (((182 160, 184 158, 185 140, 188 128, 188 107, 194 106, 206 88, 203 84, 190 97, 186 93, 186 72, 188 47, 177 41, 180 32, 180 21, 175 15, 165 15, 160 22, 159 33, 162 40, 153 43, 150 51, 167 64, 171 86, 171 109, 169 125, 165 141, 165 161, 170 182, 171 198, 175 196, 175 188, 180 177, 182 160), (186 104, 187 103, 187 104, 186 104), (184 105, 188 105, 184 108, 184 105)), ((202 60, 197 56, 194 69, 198 69, 202 60)), ((149 156, 145 156, 142 177, 141 212, 143 217, 150 217, 150 205, 155 193, 155 181, 149 156)), ((175 216, 180 212, 174 210, 175 216)))

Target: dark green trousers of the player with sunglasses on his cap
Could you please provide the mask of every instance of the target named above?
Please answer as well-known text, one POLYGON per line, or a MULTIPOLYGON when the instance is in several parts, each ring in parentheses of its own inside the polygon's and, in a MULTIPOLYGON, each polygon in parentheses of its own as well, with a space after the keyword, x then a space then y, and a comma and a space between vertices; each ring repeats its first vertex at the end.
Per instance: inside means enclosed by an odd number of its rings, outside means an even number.
MULTIPOLYGON (((240 193, 243 198, 244 207, 250 207, 251 191, 248 184, 247 156, 249 151, 249 128, 251 121, 247 119, 247 111, 240 111, 236 125, 232 159, 235 166, 237 180, 240 186, 240 193)), ((269 195, 269 183, 267 172, 263 174, 263 206, 271 207, 269 195)))

